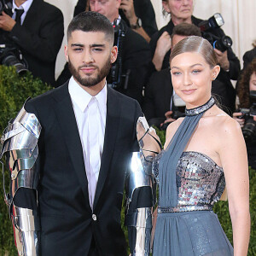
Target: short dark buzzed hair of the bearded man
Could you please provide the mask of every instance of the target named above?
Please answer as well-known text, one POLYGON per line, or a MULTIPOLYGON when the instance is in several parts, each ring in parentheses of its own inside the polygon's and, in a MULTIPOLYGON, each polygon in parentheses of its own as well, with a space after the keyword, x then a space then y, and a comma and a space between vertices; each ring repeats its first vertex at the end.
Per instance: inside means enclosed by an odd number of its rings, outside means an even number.
POLYGON ((83 12, 73 18, 67 27, 67 40, 72 32, 104 32, 106 38, 113 44, 113 26, 108 18, 96 12, 83 12))

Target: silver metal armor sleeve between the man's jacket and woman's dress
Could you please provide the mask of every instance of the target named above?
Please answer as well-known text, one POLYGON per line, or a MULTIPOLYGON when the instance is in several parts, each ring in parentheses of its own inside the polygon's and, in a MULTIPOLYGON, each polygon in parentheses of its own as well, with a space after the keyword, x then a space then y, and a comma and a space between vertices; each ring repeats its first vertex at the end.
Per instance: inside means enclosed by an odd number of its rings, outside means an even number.
MULTIPOLYGON (((137 121, 137 138, 140 146, 139 152, 134 152, 131 157, 130 177, 128 191, 126 191, 126 216, 125 223, 129 227, 136 229, 135 247, 131 252, 132 256, 149 256, 150 237, 152 229, 152 211, 155 201, 149 207, 137 207, 130 209, 134 191, 143 187, 148 187, 154 198, 152 189, 154 186, 154 176, 152 174, 152 161, 155 154, 160 152, 160 143, 156 143, 157 136, 154 129, 148 127, 144 117, 137 121), (149 134, 150 133, 150 134, 149 134)), ((133 239, 133 238, 132 238, 133 239)))

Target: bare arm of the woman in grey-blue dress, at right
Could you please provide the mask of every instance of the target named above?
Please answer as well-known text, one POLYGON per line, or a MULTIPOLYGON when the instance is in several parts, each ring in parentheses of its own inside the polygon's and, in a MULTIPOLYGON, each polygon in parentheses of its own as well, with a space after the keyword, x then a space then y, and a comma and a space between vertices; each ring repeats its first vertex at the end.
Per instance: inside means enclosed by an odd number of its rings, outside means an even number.
POLYGON ((247 149, 234 119, 221 125, 218 154, 224 168, 233 228, 234 255, 246 256, 250 236, 247 149))

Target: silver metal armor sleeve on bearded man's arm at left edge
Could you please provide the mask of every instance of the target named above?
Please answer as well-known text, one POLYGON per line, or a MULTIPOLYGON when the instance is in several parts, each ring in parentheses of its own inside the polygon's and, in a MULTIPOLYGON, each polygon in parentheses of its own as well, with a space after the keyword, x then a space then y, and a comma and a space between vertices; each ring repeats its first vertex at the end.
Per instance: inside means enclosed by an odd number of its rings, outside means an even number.
POLYGON ((35 227, 38 217, 33 215, 31 209, 16 207, 14 198, 20 188, 37 187, 34 165, 38 157, 40 131, 36 115, 27 113, 23 106, 17 117, 9 122, 1 138, 0 156, 6 157, 11 179, 9 194, 4 189, 4 198, 14 226, 15 245, 19 255, 25 256, 38 255, 38 230, 35 227))

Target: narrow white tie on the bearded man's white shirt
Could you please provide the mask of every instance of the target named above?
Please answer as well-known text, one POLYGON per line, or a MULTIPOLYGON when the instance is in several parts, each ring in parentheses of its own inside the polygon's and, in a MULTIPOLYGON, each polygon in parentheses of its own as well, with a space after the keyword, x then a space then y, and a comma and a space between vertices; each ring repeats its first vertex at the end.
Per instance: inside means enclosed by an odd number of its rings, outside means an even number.
POLYGON ((96 184, 99 177, 101 167, 101 148, 99 143, 100 132, 100 111, 96 97, 92 97, 88 104, 88 145, 87 152, 88 166, 90 166, 90 178, 88 178, 88 189, 90 196, 90 207, 93 206, 93 201, 96 192, 96 184))

